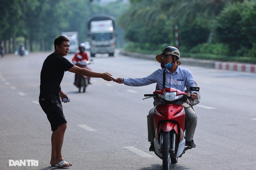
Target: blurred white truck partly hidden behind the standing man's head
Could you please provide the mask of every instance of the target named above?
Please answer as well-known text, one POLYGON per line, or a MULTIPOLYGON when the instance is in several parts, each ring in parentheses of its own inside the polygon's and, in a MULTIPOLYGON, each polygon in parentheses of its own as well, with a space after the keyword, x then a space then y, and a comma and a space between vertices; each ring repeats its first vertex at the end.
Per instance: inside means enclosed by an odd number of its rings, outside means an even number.
POLYGON ((79 51, 78 32, 61 32, 61 35, 69 39, 69 53, 76 53, 79 51))

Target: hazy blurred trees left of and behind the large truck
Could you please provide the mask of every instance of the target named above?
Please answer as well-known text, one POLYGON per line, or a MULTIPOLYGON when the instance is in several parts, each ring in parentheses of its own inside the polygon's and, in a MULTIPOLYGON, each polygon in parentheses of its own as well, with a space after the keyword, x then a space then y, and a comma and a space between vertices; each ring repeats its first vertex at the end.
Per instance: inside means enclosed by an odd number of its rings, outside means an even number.
MULTIPOLYGON (((89 0, 0 0, 0 43, 8 45, 7 52, 14 52, 22 40, 29 51, 48 51, 54 48, 55 37, 64 31, 78 31, 79 41, 84 42, 88 17, 118 17, 126 6, 121 2, 98 5, 89 0)), ((122 31, 118 27, 117 32, 121 41, 122 31)))

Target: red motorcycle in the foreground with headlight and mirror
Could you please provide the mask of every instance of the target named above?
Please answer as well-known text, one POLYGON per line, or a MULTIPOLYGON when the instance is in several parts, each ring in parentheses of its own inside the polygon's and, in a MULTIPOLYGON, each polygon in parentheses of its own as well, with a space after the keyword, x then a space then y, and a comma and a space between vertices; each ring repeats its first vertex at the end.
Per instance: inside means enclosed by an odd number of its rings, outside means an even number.
MULTIPOLYGON (((199 91, 199 87, 191 87, 189 90, 199 91)), ((190 98, 188 92, 165 88, 144 95, 144 99, 154 97, 159 101, 150 112, 154 112, 155 154, 163 160, 163 170, 169 170, 170 161, 177 163, 178 158, 191 149, 185 147, 185 110, 180 102, 190 98)))

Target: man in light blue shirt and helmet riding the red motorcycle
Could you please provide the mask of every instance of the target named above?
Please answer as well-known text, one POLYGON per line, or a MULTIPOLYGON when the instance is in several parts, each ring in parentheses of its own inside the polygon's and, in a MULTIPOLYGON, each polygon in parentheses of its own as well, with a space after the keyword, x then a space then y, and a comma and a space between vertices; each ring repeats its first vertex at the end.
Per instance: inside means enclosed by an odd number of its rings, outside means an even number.
MULTIPOLYGON (((180 91, 185 91, 186 87, 195 87, 196 85, 192 74, 188 69, 179 66, 181 65, 181 62, 178 59, 180 59, 180 51, 172 46, 166 47, 163 50, 163 53, 156 56, 156 60, 159 63, 163 62, 166 68, 158 69, 154 71, 154 73, 152 73, 151 75, 146 76, 144 78, 117 78, 115 82, 119 84, 124 83, 125 85, 136 87, 157 83, 160 90, 163 88, 171 87, 176 88, 180 91), (165 80, 163 80, 164 75, 166 77, 165 80)), ((191 100, 197 99, 197 92, 192 91, 190 93, 191 100)), ((195 148, 193 137, 195 133, 195 128, 197 126, 197 116, 189 104, 187 104, 186 102, 182 102, 181 104, 185 109, 185 145, 188 146, 189 148, 195 148)), ((152 112, 147 116, 147 122, 148 140, 149 142, 151 142, 149 150, 154 151, 155 149, 153 142, 155 138, 155 132, 152 112)))

